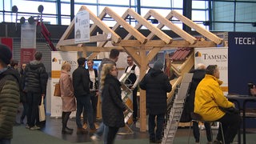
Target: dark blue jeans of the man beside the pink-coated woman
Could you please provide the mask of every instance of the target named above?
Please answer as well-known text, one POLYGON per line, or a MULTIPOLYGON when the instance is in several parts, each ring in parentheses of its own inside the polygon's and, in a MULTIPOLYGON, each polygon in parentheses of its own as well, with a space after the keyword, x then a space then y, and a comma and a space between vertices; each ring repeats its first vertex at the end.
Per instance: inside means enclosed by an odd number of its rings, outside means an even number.
POLYGON ((88 115, 90 129, 95 129, 93 122, 93 108, 90 102, 90 94, 77 97, 77 114, 75 116, 75 121, 77 123, 78 128, 82 128, 81 114, 83 108, 85 108, 86 114, 88 115))

